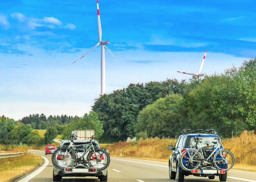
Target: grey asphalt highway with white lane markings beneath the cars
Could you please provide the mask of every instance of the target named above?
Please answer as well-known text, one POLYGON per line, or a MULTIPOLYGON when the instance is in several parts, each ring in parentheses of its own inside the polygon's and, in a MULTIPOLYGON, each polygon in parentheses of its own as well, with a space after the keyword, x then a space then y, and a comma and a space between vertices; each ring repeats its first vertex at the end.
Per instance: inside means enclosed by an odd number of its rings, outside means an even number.
MULTIPOLYGON (((41 168, 41 172, 29 179, 26 175, 23 179, 15 180, 14 182, 52 182, 53 166, 51 155, 45 156, 44 151, 30 151, 46 158, 49 163, 45 163, 45 168, 41 168)), ((33 173, 32 173, 33 175, 33 173)), ((99 181, 95 177, 86 178, 63 178, 62 182, 96 182, 99 181)), ((186 176, 185 182, 213 182, 219 181, 216 177, 214 180, 208 178, 186 176)), ((227 182, 256 182, 256 172, 242 171, 231 169, 228 172, 227 182)), ((153 160, 139 160, 131 158, 111 157, 110 166, 108 167, 108 182, 177 182, 170 180, 168 175, 168 162, 159 162, 153 160)))

